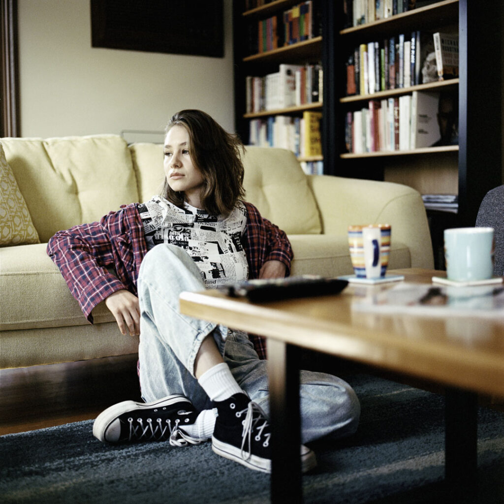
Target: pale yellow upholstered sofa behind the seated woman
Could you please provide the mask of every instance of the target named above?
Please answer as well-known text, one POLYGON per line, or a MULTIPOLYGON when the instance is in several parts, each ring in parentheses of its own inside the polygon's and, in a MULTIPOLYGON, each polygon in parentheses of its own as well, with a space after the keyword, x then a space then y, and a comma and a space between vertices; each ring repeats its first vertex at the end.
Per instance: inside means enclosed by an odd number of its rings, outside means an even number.
MULTIPOLYGON (((46 242, 59 229, 157 193, 162 147, 128 146, 113 135, 0 142, 7 161, 0 183, 0 367, 136 353, 138 339, 120 334, 103 303, 93 311, 95 324, 86 321, 46 242)), ((347 226, 376 222, 392 225, 390 268, 433 266, 425 210, 411 188, 306 176, 280 149, 249 147, 244 165, 247 200, 289 235, 293 275, 351 274, 347 226)))

